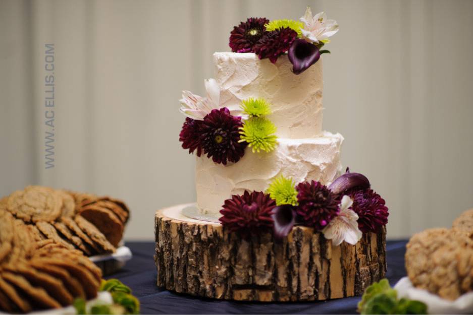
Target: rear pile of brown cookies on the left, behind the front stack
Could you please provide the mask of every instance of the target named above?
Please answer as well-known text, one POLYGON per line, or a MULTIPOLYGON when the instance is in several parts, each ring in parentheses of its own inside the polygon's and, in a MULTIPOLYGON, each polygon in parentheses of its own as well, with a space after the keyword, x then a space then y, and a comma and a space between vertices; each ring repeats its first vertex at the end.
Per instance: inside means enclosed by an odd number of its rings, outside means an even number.
POLYGON ((0 210, 21 220, 35 241, 49 239, 86 256, 114 253, 129 218, 120 200, 44 186, 0 199, 0 210))

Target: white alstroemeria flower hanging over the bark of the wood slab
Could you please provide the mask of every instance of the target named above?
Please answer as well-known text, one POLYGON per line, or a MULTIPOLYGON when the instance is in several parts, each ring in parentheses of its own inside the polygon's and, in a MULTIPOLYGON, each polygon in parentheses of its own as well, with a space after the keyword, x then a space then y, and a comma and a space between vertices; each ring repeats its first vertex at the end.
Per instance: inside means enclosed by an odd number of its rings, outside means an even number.
POLYGON ((354 245, 363 235, 358 228, 358 215, 353 210, 348 209, 352 205, 353 200, 347 195, 343 196, 340 203, 340 213, 322 231, 325 238, 331 239, 335 246, 340 245, 343 241, 354 245))

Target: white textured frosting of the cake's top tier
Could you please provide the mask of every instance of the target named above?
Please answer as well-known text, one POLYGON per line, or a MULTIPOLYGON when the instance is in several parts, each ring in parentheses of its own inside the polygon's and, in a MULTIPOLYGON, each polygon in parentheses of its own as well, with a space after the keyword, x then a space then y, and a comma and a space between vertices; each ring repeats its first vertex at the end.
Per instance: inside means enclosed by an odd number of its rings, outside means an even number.
POLYGON ((313 138, 322 132, 322 59, 300 75, 291 72, 287 55, 276 64, 259 60, 254 53, 214 53, 220 102, 232 114, 240 113, 241 100, 262 97, 271 103, 276 135, 313 138))

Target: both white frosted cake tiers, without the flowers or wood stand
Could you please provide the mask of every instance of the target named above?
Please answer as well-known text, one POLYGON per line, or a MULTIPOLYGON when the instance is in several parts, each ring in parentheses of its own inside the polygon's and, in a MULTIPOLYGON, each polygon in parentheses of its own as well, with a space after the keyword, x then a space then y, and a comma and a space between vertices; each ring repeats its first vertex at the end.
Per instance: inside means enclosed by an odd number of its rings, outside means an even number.
POLYGON ((287 56, 272 64, 254 53, 216 52, 214 63, 222 106, 238 114, 241 101, 249 97, 271 103, 278 146, 261 153, 246 148, 249 152, 237 163, 227 165, 197 157, 195 186, 202 213, 220 216, 224 200, 245 190, 264 192, 280 174, 324 184, 340 174, 343 137, 322 130, 322 60, 298 76, 287 56))

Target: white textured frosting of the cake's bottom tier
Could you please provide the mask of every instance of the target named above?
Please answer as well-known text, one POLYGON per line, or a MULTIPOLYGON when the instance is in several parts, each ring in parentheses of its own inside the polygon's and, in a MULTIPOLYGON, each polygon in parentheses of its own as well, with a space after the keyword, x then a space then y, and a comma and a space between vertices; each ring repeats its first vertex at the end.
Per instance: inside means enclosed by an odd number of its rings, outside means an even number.
POLYGON ((339 175, 342 135, 324 132, 317 138, 279 138, 278 142, 270 153, 252 153, 246 148, 240 161, 226 166, 204 155, 197 157, 195 185, 200 211, 219 216, 226 199, 245 190, 264 192, 279 174, 296 183, 313 179, 324 184, 339 175))

